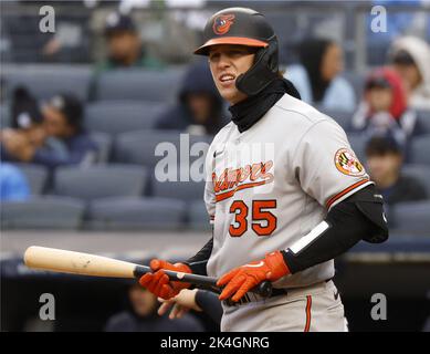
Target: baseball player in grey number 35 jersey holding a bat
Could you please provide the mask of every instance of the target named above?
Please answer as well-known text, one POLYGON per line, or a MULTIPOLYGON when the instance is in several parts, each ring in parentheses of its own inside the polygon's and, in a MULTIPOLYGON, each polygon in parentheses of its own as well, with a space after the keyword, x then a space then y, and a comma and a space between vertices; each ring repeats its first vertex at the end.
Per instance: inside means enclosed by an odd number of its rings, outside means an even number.
POLYGON ((170 299, 189 284, 164 269, 216 277, 222 331, 346 331, 334 258, 388 238, 382 198, 342 127, 280 75, 276 35, 261 13, 217 12, 203 37, 195 53, 208 56, 232 114, 207 155, 213 235, 182 263, 151 260, 140 284, 170 299), (255 146, 270 148, 244 153, 255 146), (273 284, 269 298, 250 292, 263 281, 273 284))

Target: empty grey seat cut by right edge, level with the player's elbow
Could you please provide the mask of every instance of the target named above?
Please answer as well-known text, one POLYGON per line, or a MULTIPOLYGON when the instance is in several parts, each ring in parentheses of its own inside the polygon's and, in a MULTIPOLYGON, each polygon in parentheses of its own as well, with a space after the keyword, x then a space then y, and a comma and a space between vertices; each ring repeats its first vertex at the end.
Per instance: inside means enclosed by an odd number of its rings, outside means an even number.
POLYGON ((430 230, 430 201, 399 202, 394 208, 395 226, 408 232, 430 230))

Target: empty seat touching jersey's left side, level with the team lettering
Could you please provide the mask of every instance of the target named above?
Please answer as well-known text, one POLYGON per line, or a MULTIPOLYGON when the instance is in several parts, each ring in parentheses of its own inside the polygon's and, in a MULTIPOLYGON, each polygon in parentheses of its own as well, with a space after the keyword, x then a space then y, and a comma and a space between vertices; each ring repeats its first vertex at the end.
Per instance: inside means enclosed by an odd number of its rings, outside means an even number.
MULTIPOLYGON (((181 176, 180 171, 178 176, 181 176)), ((202 200, 204 194, 204 180, 193 181, 189 178, 189 181, 159 181, 157 176, 153 175, 151 192, 155 197, 161 198, 176 198, 185 201, 202 200)))

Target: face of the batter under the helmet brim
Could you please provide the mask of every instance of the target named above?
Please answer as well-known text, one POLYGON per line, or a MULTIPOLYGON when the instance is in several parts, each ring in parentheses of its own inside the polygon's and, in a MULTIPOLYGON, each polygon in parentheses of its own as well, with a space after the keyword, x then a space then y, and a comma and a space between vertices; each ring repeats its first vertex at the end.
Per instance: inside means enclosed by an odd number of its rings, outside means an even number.
POLYGON ((254 63, 254 51, 244 45, 213 45, 209 52, 209 65, 220 95, 230 104, 237 104, 247 95, 235 86, 235 80, 254 63))

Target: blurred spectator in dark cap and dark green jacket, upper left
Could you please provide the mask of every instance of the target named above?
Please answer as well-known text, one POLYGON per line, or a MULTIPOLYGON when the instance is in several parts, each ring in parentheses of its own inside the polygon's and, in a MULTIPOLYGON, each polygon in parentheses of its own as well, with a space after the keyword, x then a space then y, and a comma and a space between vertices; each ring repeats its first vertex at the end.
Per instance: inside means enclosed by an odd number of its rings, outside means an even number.
POLYGON ((105 37, 108 58, 99 63, 96 72, 124 67, 161 69, 160 61, 146 52, 133 19, 117 12, 106 18, 105 37))

